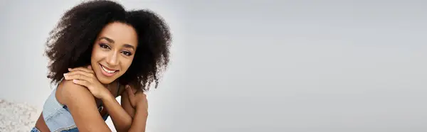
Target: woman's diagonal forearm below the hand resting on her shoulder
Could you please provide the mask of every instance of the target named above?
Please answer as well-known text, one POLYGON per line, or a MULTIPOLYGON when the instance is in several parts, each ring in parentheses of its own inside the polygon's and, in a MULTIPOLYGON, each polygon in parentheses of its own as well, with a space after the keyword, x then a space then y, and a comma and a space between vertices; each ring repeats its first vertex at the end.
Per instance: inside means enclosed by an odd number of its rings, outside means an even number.
POLYGON ((120 106, 119 102, 110 94, 102 99, 105 109, 110 114, 112 123, 117 131, 128 131, 132 125, 132 117, 127 114, 125 109, 120 106))

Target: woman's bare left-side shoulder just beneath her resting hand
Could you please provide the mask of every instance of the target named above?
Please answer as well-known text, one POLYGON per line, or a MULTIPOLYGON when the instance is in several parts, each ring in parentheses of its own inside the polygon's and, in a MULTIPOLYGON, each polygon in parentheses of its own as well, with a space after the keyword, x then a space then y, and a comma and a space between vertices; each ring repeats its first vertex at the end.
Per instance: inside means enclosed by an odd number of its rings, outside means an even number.
POLYGON ((69 104, 77 98, 95 99, 90 91, 83 86, 74 84, 73 81, 63 80, 56 89, 56 99, 60 104, 69 104))

